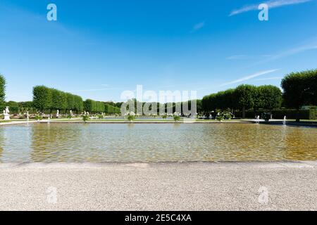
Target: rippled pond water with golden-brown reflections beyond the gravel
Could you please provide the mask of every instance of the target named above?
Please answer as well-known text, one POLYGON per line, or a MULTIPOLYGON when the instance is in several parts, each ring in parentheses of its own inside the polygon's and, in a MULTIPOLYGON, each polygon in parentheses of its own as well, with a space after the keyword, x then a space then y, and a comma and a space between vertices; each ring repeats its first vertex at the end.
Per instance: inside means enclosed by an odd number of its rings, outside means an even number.
POLYGON ((259 124, 0 127, 0 162, 317 160, 317 129, 259 124))

